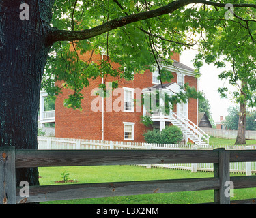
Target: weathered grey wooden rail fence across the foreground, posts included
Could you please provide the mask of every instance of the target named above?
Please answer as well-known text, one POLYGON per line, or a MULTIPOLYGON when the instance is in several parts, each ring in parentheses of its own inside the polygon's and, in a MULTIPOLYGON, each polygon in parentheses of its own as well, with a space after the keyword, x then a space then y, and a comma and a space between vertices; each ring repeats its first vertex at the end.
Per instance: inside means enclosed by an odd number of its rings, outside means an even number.
POLYGON ((0 204, 44 202, 148 193, 214 190, 212 204, 254 203, 256 199, 230 202, 226 182, 234 189, 256 187, 256 176, 230 177, 230 162, 256 161, 255 150, 15 150, 0 148, 0 204), (159 163, 214 163, 213 178, 170 179, 30 186, 29 197, 16 187, 15 169, 48 166, 100 166, 159 163))

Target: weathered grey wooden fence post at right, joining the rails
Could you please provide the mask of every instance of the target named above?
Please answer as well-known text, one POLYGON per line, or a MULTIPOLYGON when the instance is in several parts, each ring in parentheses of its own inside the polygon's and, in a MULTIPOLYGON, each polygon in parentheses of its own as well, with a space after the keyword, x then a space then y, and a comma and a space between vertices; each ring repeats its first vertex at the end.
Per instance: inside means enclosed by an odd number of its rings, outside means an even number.
POLYGON ((218 163, 214 163, 214 178, 219 179, 220 187, 218 190, 214 190, 214 202, 219 204, 230 204, 230 152, 224 148, 214 149, 218 151, 218 163))

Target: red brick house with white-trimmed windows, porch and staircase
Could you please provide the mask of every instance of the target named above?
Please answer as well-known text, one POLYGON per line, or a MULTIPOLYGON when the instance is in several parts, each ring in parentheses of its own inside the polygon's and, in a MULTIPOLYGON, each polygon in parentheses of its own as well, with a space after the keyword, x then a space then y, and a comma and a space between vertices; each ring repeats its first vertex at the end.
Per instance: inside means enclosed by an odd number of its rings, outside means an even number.
MULTIPOLYGON (((81 59, 87 60, 89 55, 91 52, 81 55, 81 59)), ((91 61, 94 63, 100 59, 106 59, 106 55, 95 54, 91 57, 91 61)), ((120 79, 118 90, 113 90, 110 97, 102 99, 95 95, 99 84, 102 83, 102 78, 91 80, 89 87, 85 87, 82 91, 84 97, 81 104, 82 111, 63 106, 64 99, 72 93, 69 89, 63 89, 63 94, 58 95, 55 101, 55 136, 145 142, 142 134, 147 127, 141 123, 141 116, 147 114, 147 111, 144 106, 138 104, 141 95, 149 93, 153 89, 175 95, 175 92, 180 91, 180 85, 186 82, 191 87, 196 89, 198 87, 194 70, 180 63, 178 54, 173 55, 172 59, 175 61, 173 65, 165 66, 165 68, 173 74, 173 80, 170 83, 165 83, 164 88, 160 86, 160 81, 157 78, 158 71, 145 70, 144 74, 134 74, 133 80, 120 79)), ((112 66, 120 67, 118 63, 112 63, 112 66)), ((117 78, 106 78, 106 82, 113 80, 117 80, 117 78)), ((60 85, 61 82, 57 84, 60 85)), ((182 129, 186 142, 190 140, 195 144, 205 144, 205 140, 202 140, 205 138, 205 133, 197 126, 197 107, 197 99, 190 99, 186 104, 177 104, 169 115, 162 114, 160 110, 155 111, 152 114, 154 125, 151 128, 159 128, 161 131, 165 125, 177 125, 182 129)), ((42 117, 40 120, 44 121, 44 118, 42 117)), ((207 138, 205 139, 207 143, 207 138)))

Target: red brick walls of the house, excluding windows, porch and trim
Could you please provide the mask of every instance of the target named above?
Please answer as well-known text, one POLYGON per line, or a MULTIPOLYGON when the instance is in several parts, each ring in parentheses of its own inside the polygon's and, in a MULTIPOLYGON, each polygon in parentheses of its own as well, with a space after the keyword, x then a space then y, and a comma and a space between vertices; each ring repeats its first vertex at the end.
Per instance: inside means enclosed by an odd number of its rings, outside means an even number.
MULTIPOLYGON (((87 61, 91 57, 91 52, 83 54, 81 58, 87 61)), ((93 55, 92 61, 97 62, 101 59, 101 55, 93 55)), ((106 58, 104 56, 104 58, 106 58)), ((111 63, 114 68, 119 67, 118 63, 111 63)), ((177 75, 173 73, 172 82, 177 82, 177 75)), ((101 83, 101 78, 91 80, 89 87, 83 89, 84 99, 82 101, 82 111, 73 110, 72 108, 66 108, 63 106, 63 100, 68 98, 68 95, 72 93, 69 89, 63 89, 63 94, 59 95, 55 102, 55 136, 59 138, 84 138, 92 140, 102 140, 102 112, 94 112, 91 110, 91 102, 96 100, 96 96, 91 96, 91 90, 97 88, 101 83)), ((117 80, 117 78, 107 77, 106 82, 117 80)), ((197 79, 192 76, 185 76, 185 82, 189 82, 190 86, 197 88, 197 79)), ((57 84, 61 85, 61 82, 57 84)), ((134 80, 126 81, 121 79, 119 81, 119 87, 139 88, 143 89, 151 87, 152 84, 152 73, 146 70, 144 74, 135 74, 134 80)), ((122 90, 122 89, 121 89, 122 90)), ((120 97, 112 96, 112 101, 118 100, 120 97)), ((134 99, 136 99, 134 91, 134 99)), ((106 102, 111 99, 104 99, 104 140, 122 141, 124 140, 124 124, 123 122, 132 122, 134 125, 134 141, 144 142, 143 132, 147 129, 141 123, 141 111, 124 112, 123 105, 119 106, 122 108, 121 112, 115 112, 112 108, 111 112, 106 111, 106 102)), ((111 105, 111 104, 110 104, 111 105)), ((190 99, 188 103, 188 118, 197 124, 197 100, 190 99)))

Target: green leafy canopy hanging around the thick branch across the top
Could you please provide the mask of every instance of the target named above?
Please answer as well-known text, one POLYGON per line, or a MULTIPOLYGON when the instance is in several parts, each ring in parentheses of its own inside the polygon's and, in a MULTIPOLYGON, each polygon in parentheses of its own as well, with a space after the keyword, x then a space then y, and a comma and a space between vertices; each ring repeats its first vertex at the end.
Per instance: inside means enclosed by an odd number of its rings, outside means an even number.
MULTIPOLYGON (((161 65, 171 65, 171 51, 182 52, 195 43, 203 44, 204 48, 216 48, 210 50, 205 56, 209 61, 220 57, 218 51, 233 51, 237 48, 236 60, 240 57, 248 57, 248 48, 255 36, 255 22, 246 22, 235 18, 225 20, 227 9, 225 3, 229 1, 55 1, 53 7, 53 19, 51 26, 55 29, 66 31, 81 31, 107 24, 117 18, 128 17, 140 12, 154 12, 158 8, 169 5, 173 8, 169 13, 161 16, 152 16, 148 19, 145 14, 136 22, 130 22, 122 27, 113 28, 111 31, 89 37, 79 41, 57 41, 51 48, 48 57, 42 87, 50 95, 57 95, 63 88, 72 89, 74 92, 66 99, 66 105, 73 108, 81 108, 83 95, 81 90, 89 85, 90 80, 98 77, 115 76, 117 80, 112 87, 117 87, 119 78, 132 79, 132 73, 143 73, 145 69, 160 69, 160 80, 171 80, 170 72, 162 69, 161 65), (186 5, 186 7, 184 7, 186 5), (240 24, 242 23, 242 25, 240 24), (244 27, 243 27, 244 26, 244 27), (207 33, 206 40, 203 33, 207 33), (196 40, 196 35, 201 35, 196 40), (235 36, 235 38, 233 38, 235 36), (240 39, 240 40, 238 40, 240 39), (233 45, 233 48, 229 47, 233 45), (227 46, 225 46, 227 45, 227 46), (239 46, 238 46, 239 45, 239 46), (238 47, 236 47, 238 46, 238 47), (70 49, 70 47, 72 49, 70 49), (91 63, 90 60, 80 60, 79 53, 94 52, 109 55, 109 59, 99 63, 91 63), (122 65, 119 69, 113 69, 111 63, 122 65), (90 63, 90 64, 89 64, 90 63), (123 71, 123 67, 126 71, 123 71), (54 82, 61 80, 61 87, 54 82)), ((236 13, 244 19, 255 19, 255 8, 240 7, 240 3, 254 3, 251 0, 236 0, 236 13), (252 9, 250 9, 252 8, 252 9)), ((126 22, 126 19, 122 22, 126 22)), ((115 22, 109 23, 115 25, 115 22)), ((74 37, 75 38, 75 37, 74 37)), ((227 54, 225 52, 225 54, 227 54)), ((253 52, 254 57, 254 52, 253 52)), ((224 60, 229 60, 225 56, 224 60)), ((223 61, 218 61, 218 66, 223 66, 223 61)), ((236 62, 242 65, 242 61, 236 62)), ((251 62, 250 62, 251 63, 251 62)), ((200 61, 196 61, 196 73, 199 76, 200 61)), ((250 69, 252 64, 247 65, 250 69)), ((244 72, 241 76, 244 78, 244 72)), ((224 75, 224 74, 223 74, 224 75)), ((250 74, 251 75, 251 74, 250 74)), ((238 75, 240 78, 240 74, 238 75)), ((236 78, 233 78, 236 82, 236 78)), ((255 84, 251 84, 251 87, 255 84)), ((104 89, 106 84, 101 84, 104 89)))

